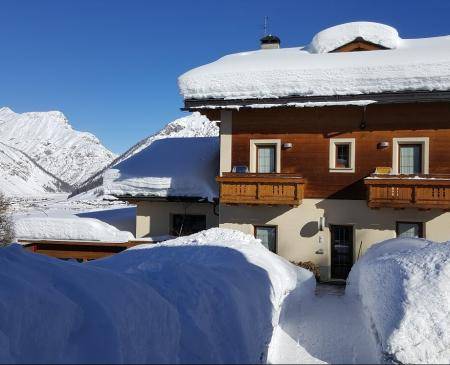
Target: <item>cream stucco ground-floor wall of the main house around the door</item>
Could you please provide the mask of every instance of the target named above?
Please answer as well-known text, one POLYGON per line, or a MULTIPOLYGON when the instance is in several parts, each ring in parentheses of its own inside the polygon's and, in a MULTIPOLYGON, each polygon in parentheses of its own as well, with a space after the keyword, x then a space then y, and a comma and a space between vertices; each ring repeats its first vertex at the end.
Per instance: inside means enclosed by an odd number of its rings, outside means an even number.
POLYGON ((450 240, 450 213, 441 210, 369 209, 365 200, 305 199, 297 208, 268 206, 220 206, 220 226, 254 234, 254 225, 277 225, 277 253, 291 261, 313 261, 321 274, 329 278, 329 225, 354 227, 353 257, 361 247, 363 254, 372 244, 396 236, 397 221, 424 223, 424 234, 434 241, 450 240), (326 227, 318 231, 319 217, 326 217, 326 227), (322 250, 323 254, 316 253, 322 250))

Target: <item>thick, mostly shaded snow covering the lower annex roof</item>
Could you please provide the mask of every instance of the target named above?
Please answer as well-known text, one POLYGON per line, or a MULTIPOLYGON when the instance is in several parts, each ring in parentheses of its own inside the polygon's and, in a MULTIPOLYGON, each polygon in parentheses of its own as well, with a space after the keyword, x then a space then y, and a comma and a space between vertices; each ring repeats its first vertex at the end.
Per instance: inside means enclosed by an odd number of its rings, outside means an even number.
POLYGON ((195 197, 212 201, 218 196, 217 137, 166 138, 153 142, 107 170, 105 194, 114 196, 195 197))

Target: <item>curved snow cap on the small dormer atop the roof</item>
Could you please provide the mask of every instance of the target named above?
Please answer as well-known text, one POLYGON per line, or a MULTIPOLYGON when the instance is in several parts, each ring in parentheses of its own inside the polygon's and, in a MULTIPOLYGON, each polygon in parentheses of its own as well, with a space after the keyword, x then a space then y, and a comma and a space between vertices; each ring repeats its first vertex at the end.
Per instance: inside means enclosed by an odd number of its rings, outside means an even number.
POLYGON ((359 37, 389 49, 395 49, 400 44, 400 37, 395 28, 373 22, 351 22, 317 33, 311 41, 310 52, 328 53, 359 37))

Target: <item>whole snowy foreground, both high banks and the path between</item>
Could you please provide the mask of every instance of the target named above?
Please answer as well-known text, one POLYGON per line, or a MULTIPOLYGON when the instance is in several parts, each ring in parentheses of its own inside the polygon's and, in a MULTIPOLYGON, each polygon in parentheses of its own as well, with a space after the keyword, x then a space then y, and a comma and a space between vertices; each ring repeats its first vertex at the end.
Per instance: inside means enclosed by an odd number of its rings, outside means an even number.
POLYGON ((448 363, 450 244, 370 248, 343 287, 214 228, 79 264, 0 250, 0 362, 448 363))

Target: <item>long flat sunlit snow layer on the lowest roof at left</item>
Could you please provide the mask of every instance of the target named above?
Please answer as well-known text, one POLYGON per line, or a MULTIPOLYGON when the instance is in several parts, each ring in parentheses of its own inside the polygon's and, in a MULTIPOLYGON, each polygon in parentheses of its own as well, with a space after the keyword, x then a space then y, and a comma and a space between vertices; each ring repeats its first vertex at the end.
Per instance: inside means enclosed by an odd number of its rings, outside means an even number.
POLYGON ((94 218, 20 218, 14 225, 19 239, 126 242, 134 238, 130 232, 94 218))

